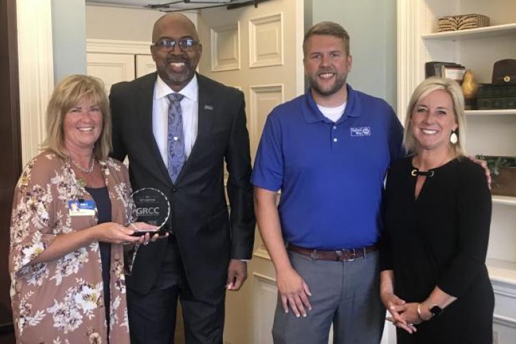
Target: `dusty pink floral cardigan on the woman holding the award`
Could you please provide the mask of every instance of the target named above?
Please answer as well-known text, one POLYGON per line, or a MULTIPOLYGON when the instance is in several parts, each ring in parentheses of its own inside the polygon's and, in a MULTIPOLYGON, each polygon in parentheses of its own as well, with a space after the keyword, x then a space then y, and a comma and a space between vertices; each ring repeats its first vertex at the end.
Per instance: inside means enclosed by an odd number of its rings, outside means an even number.
MULTIPOLYGON (((127 223, 127 169, 100 162, 111 219, 127 223)), ((17 343, 107 343, 98 242, 55 260, 30 264, 56 236, 97 224, 96 215, 70 216, 69 200, 92 200, 69 163, 44 151, 25 166, 14 191, 9 272, 17 343)), ((95 214, 97 213, 95 209, 95 214)), ((111 245, 109 343, 129 343, 122 245, 111 245)))

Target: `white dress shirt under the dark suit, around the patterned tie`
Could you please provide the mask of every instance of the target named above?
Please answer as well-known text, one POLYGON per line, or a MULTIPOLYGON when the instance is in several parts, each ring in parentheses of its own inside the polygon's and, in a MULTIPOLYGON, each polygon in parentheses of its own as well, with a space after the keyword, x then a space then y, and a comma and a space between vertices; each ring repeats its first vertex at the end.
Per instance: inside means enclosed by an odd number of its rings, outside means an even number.
MULTIPOLYGON (((183 134, 184 134, 184 153, 186 158, 189 157, 195 139, 197 138, 197 122, 199 121, 199 85, 197 84, 197 76, 193 76, 192 80, 180 90, 180 94, 184 95, 181 100, 181 111, 183 117, 183 134)), ((169 131, 169 98, 168 94, 175 93, 166 85, 162 78, 158 75, 154 84, 154 96, 152 101, 152 132, 158 149, 160 149, 161 157, 165 166, 169 160, 167 155, 166 136, 169 131)))

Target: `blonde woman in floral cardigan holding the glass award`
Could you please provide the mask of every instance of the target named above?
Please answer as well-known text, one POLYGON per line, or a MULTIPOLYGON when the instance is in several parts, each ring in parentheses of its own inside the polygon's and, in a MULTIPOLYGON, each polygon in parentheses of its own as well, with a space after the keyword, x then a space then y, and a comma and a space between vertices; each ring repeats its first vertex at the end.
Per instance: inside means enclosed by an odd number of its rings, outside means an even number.
POLYGON ((129 343, 122 244, 150 238, 125 226, 129 175, 108 158, 110 147, 103 84, 67 76, 47 106, 43 151, 14 191, 9 270, 19 343, 129 343))

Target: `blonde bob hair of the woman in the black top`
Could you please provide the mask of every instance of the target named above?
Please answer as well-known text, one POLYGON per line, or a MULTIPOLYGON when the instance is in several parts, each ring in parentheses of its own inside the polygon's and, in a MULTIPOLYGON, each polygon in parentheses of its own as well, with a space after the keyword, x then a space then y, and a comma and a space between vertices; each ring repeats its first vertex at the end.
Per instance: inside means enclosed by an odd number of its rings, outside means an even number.
POLYGON ((453 103, 453 113, 455 114, 455 122, 457 122, 457 134, 459 140, 456 144, 452 144, 451 147, 455 152, 455 155, 464 155, 464 146, 466 144, 466 118, 464 116, 464 95, 462 94, 462 88, 455 82, 455 80, 440 78, 438 76, 431 76, 414 89, 414 92, 409 101, 409 107, 407 107, 407 116, 405 116, 405 132, 403 133, 403 146, 407 153, 416 153, 416 139, 413 137, 410 130, 410 120, 412 117, 412 111, 419 100, 428 96, 431 92, 437 89, 442 89, 447 92, 453 103))

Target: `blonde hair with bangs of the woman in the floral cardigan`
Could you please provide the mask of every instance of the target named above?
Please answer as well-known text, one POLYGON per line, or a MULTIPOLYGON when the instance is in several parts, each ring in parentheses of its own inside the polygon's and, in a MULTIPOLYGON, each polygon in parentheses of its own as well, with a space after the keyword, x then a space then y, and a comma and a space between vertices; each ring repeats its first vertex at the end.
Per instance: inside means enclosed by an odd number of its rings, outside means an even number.
POLYGON ((88 98, 92 103, 98 105, 102 112, 102 131, 94 144, 93 154, 96 160, 107 159, 107 155, 111 151, 109 100, 104 91, 103 81, 94 76, 69 75, 56 85, 47 105, 47 138, 41 145, 41 149, 48 149, 63 159, 67 158, 63 120, 67 112, 84 98, 88 98))

